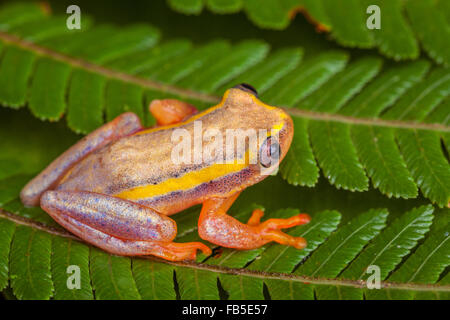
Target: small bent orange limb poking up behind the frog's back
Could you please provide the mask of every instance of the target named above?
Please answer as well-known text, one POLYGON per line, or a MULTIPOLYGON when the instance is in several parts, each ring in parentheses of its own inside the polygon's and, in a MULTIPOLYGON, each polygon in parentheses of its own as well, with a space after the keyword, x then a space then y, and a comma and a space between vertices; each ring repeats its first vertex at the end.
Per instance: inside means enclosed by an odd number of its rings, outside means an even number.
POLYGON ((193 105, 175 99, 153 100, 149 110, 160 126, 182 122, 197 112, 193 105))

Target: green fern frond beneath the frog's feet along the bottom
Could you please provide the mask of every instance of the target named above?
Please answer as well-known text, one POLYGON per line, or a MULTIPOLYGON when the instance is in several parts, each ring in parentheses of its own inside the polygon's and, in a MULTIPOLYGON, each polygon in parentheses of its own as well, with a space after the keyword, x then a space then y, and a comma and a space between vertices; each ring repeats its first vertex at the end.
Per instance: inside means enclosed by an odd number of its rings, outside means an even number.
MULTIPOLYGON (((294 212, 292 209, 282 210, 277 212, 276 216, 283 217, 292 214, 292 212, 294 212)), ((414 209, 401 216, 397 222, 388 226, 382 234, 375 237, 385 225, 386 210, 371 210, 361 214, 345 226, 338 227, 335 232, 333 230, 339 222, 340 215, 337 212, 325 211, 314 215, 314 217, 317 217, 316 220, 313 220, 315 223, 297 227, 291 231, 292 235, 305 236, 308 239, 311 246, 306 251, 295 251, 286 247, 283 247, 284 250, 279 250, 279 245, 271 244, 252 251, 229 250, 226 252, 224 250, 220 258, 211 256, 200 264, 165 264, 141 258, 130 259, 112 256, 78 243, 73 240, 73 236, 65 231, 54 230, 45 225, 36 224, 32 220, 17 219, 2 214, 1 225, 8 225, 9 228, 2 229, 6 230, 8 235, 0 238, 0 245, 6 245, 6 248, 9 248, 12 232, 14 232, 14 227, 11 226, 17 225, 16 230, 18 231, 16 232, 18 234, 13 237, 15 244, 11 244, 12 261, 8 264, 7 258, 3 258, 0 260, 0 267, 2 270, 9 269, 8 277, 11 279, 11 286, 15 294, 20 294, 23 298, 45 299, 51 296, 55 299, 92 298, 91 290, 93 290, 96 299, 173 299, 177 292, 182 299, 218 299, 221 295, 220 290, 225 290, 224 294, 230 299, 263 299, 264 284, 272 299, 313 299, 314 296, 320 299, 348 298, 351 297, 349 296, 351 293, 362 297, 365 282, 355 281, 351 279, 351 276, 344 277, 344 275, 352 273, 351 270, 359 273, 361 270, 357 265, 361 264, 361 261, 367 260, 366 258, 372 259, 373 255, 370 252, 374 250, 378 252, 380 257, 386 254, 394 254, 397 261, 395 264, 398 263, 399 257, 415 247, 417 240, 423 237, 423 234, 428 230, 430 219, 433 217, 431 212, 430 207, 414 209), (401 230, 402 228, 404 231, 401 230), (50 251, 43 256, 37 256, 36 250, 39 251, 39 254, 50 250, 50 233, 53 234, 53 246, 59 246, 59 248, 55 248, 51 256, 50 251), (389 237, 391 237, 391 240, 388 239, 389 237), (386 246, 387 242, 390 242, 390 244, 386 246), (68 250, 69 244, 74 246, 71 247, 71 250, 68 250), (398 248, 399 246, 400 248, 398 248), (72 251, 72 248, 74 251, 72 251), (31 255, 25 255, 24 250, 30 250, 31 255), (312 253, 311 256, 309 256, 310 253, 312 253), (399 253, 400 255, 398 255, 399 253), (239 258, 239 255, 242 257, 239 258), (19 261, 15 261, 20 256, 22 256, 22 259, 40 259, 40 266, 24 268, 19 261), (231 256, 234 257, 231 258, 231 256), (358 257, 354 263, 341 274, 345 265, 355 256, 358 257), (88 257, 90 267, 88 267, 86 260, 88 257), (219 261, 218 263, 216 259, 219 261), (306 261, 302 261, 304 259, 306 261), (72 263, 80 266, 81 274, 90 279, 84 281, 91 281, 93 284, 91 289, 89 283, 85 283, 84 291, 76 293, 77 296, 64 288, 67 275, 64 277, 63 272, 72 263), (19 266, 22 267, 17 269, 19 266), (16 269, 20 272, 29 272, 30 277, 21 277, 19 281, 14 281, 14 277, 11 278, 11 275, 15 274, 13 270, 16 269), (294 272, 291 273, 292 271, 294 272), (174 272, 176 273, 179 291, 175 291, 174 272), (332 280, 338 274, 341 274, 341 276, 332 280), (35 277, 37 275, 44 275, 44 278, 35 277), (305 284, 305 282, 310 284, 305 284), (47 286, 49 290, 54 287, 55 290, 54 292, 47 291, 47 294, 43 296, 42 292, 36 293, 32 290, 33 286, 37 284, 47 286), (334 296, 336 288, 338 288, 340 294, 334 296)), ((245 215, 240 216, 245 217, 245 215)), ((179 221, 178 223, 183 227, 183 223, 179 221)), ((439 274, 445 270, 449 263, 447 238, 448 228, 441 228, 438 235, 430 236, 431 240, 427 240, 420 246, 417 252, 412 254, 392 277, 399 281, 397 276, 394 275, 401 273, 402 277, 406 277, 408 274, 415 273, 427 275, 426 278, 422 279, 424 283, 436 281, 439 274), (415 254, 419 256, 416 258, 415 254), (423 260, 424 256, 428 257, 425 261, 423 260), (423 263, 423 265, 419 265, 420 263, 423 263), (408 271, 403 274, 403 272, 400 272, 402 268, 408 271), (428 268, 433 268, 434 272, 430 274, 426 270, 422 271, 428 268)), ((376 263, 384 263, 384 261, 380 258, 376 263)), ((366 265, 366 263, 363 264, 366 265)), ((395 264, 388 268, 392 268, 395 264)), ((414 294, 416 290, 420 290, 422 294, 427 292, 429 294, 445 294, 446 291, 450 290, 444 283, 440 286, 421 286, 416 284, 415 281, 406 283, 383 282, 382 286, 385 289, 381 290, 379 294, 388 292, 388 290, 389 292, 395 292, 395 294, 406 292, 407 295, 414 294)))

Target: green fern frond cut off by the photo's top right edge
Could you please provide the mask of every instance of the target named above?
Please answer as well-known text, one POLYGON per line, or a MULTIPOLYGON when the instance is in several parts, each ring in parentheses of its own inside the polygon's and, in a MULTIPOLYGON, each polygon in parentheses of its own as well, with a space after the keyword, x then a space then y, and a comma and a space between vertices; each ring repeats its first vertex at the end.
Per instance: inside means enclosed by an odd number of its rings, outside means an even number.
POLYGON ((167 0, 175 11, 200 14, 203 7, 215 13, 246 12, 258 27, 285 29, 301 12, 321 32, 330 32, 340 44, 348 47, 373 48, 395 60, 419 56, 419 42, 437 63, 449 65, 447 46, 449 23, 446 1, 401 0, 167 0), (366 21, 369 6, 380 8, 381 28, 369 30, 366 21))

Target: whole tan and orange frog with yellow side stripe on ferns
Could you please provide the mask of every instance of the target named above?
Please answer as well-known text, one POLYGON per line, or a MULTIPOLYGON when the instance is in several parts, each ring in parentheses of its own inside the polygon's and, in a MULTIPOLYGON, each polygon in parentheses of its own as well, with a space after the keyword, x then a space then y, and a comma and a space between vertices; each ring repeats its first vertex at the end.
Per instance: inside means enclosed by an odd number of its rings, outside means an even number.
MULTIPOLYGON (((168 261, 195 260, 200 251, 210 256, 212 250, 202 241, 174 241, 177 225, 170 216, 195 205, 202 206, 200 238, 217 248, 251 250, 269 242, 306 247, 304 238, 281 230, 308 223, 306 213, 261 221, 264 211, 255 209, 247 223, 227 213, 243 190, 278 170, 294 134, 286 111, 263 103, 252 86, 240 84, 201 112, 176 99, 153 100, 149 112, 156 119, 152 127, 145 128, 135 113, 125 112, 84 136, 24 186, 23 204, 40 206, 78 238, 120 256, 168 261), (201 133, 250 128, 265 135, 255 148, 246 140, 231 152, 240 162, 224 161, 220 152, 210 152, 201 161, 174 161, 179 142, 174 142, 174 134, 195 135, 199 122, 201 133), (273 159, 277 161, 272 165, 273 159)), ((201 139, 204 148, 215 140, 201 139)))

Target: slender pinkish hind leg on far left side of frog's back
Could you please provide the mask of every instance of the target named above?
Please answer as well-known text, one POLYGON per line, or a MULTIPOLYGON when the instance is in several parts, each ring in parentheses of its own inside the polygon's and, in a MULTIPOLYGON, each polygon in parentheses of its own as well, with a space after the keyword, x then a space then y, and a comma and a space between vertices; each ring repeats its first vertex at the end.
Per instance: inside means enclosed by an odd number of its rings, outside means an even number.
POLYGON ((64 174, 77 162, 111 141, 142 129, 139 117, 126 112, 93 131, 55 159, 21 191, 20 198, 27 206, 39 205, 41 195, 55 187, 64 174))

